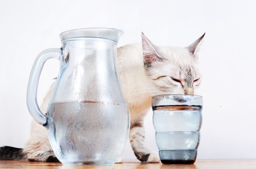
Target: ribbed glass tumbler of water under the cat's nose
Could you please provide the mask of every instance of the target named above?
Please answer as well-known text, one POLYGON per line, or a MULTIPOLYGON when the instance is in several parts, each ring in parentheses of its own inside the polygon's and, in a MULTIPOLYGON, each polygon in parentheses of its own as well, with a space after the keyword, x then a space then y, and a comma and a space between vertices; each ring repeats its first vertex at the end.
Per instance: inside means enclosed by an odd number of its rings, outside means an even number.
POLYGON ((203 98, 199 95, 158 95, 152 99, 153 124, 163 164, 196 161, 202 125, 203 98))

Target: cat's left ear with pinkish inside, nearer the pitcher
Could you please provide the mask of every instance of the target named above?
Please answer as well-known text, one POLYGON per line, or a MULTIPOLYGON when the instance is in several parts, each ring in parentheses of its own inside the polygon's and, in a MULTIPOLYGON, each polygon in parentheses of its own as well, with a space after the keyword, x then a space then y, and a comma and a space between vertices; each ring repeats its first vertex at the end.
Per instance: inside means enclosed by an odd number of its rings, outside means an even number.
POLYGON ((164 58, 158 54, 158 47, 141 33, 144 64, 150 66, 153 62, 162 61, 164 58))

